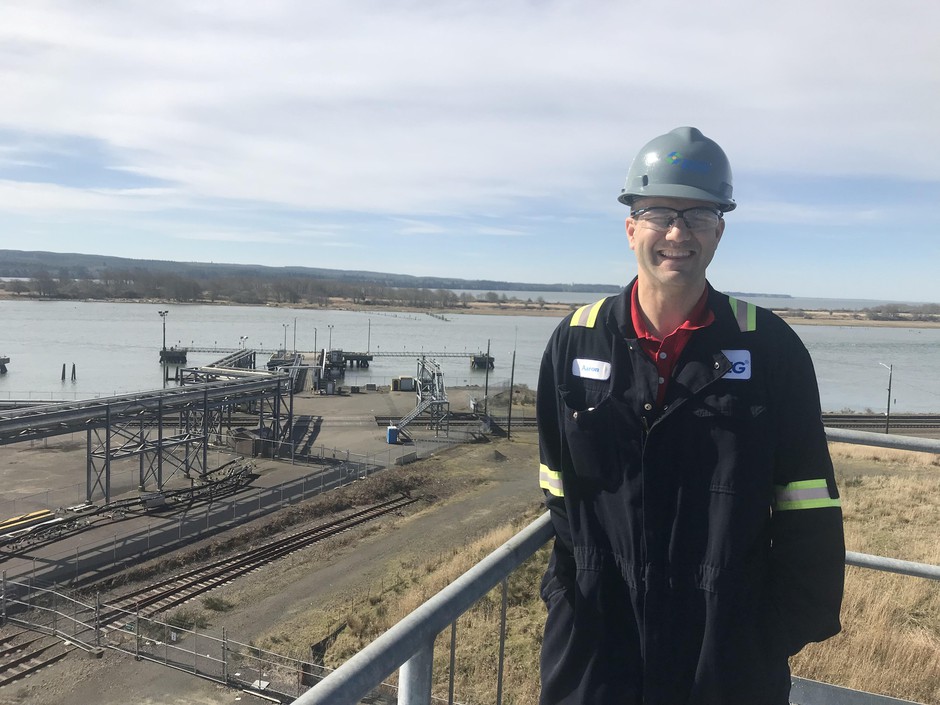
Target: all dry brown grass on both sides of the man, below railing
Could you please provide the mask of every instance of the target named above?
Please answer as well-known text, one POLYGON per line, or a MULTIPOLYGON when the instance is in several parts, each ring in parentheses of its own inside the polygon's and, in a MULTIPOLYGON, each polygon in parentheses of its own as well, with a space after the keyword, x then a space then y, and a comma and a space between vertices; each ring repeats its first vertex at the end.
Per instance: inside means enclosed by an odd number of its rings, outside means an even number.
MULTIPOLYGON (((833 444, 848 549, 940 564, 940 457, 833 444)), ((537 512, 452 554, 398 576, 349 614, 323 616, 315 633, 346 628, 326 651, 338 665, 505 542, 537 512)), ((537 702, 538 649, 545 612, 538 583, 547 560, 540 550, 509 580, 504 702, 537 702)), ((501 594, 494 590, 457 627, 456 699, 494 702, 501 594)), ((848 568, 843 632, 791 660, 795 675, 940 705, 940 586, 919 578, 848 568)), ((262 639, 261 646, 276 648, 262 639)), ((435 647, 436 696, 448 691, 450 632, 435 647)))

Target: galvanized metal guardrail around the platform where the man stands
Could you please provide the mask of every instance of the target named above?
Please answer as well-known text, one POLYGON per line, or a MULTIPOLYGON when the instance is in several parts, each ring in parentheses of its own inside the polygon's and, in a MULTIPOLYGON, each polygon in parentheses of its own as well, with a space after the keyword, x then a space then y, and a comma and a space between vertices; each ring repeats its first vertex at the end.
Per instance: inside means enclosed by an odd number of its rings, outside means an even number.
MULTIPOLYGON (((940 441, 934 439, 831 428, 826 429, 826 435, 829 440, 842 443, 940 454, 940 441)), ((428 705, 431 702, 434 639, 553 535, 546 512, 294 700, 293 705, 356 705, 396 668, 401 668, 399 705, 428 705)), ((940 567, 923 563, 851 552, 846 554, 846 563, 940 580, 940 567)), ((793 678, 790 701, 794 705, 888 705, 906 702, 802 678, 793 678)))

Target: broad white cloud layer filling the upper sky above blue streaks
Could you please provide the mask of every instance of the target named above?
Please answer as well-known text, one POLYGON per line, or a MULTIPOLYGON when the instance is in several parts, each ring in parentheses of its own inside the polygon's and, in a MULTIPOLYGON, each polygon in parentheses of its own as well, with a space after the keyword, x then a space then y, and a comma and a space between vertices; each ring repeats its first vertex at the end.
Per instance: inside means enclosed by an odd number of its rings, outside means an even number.
POLYGON ((917 149, 940 106, 933 4, 32 7, 0 11, 2 120, 107 142, 204 197, 511 208, 576 197, 692 119, 747 169, 940 177, 917 149))

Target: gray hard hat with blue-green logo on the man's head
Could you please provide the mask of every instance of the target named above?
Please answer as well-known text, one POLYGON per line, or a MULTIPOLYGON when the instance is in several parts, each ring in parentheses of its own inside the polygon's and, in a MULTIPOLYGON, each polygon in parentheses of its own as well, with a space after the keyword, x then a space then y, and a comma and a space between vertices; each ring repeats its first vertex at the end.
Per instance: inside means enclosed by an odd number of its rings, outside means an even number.
POLYGON ((629 206, 638 198, 694 198, 728 212, 737 205, 731 184, 731 164, 718 143, 697 128, 677 127, 640 150, 617 200, 629 206))

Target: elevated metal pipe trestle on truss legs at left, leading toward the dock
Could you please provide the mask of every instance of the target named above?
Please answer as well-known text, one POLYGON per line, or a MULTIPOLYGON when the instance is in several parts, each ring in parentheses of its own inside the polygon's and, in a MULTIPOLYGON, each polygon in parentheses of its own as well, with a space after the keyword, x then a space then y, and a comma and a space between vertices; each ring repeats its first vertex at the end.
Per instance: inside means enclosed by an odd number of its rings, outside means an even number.
POLYGON ((256 433, 274 455, 288 447, 295 374, 205 369, 186 370, 177 388, 2 411, 0 445, 85 433, 86 501, 106 503, 117 460, 139 459, 141 491, 161 490, 176 473, 204 478, 209 447, 236 411, 257 417, 256 433))

